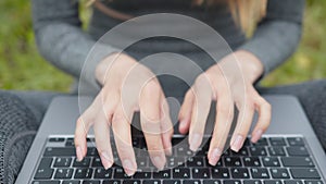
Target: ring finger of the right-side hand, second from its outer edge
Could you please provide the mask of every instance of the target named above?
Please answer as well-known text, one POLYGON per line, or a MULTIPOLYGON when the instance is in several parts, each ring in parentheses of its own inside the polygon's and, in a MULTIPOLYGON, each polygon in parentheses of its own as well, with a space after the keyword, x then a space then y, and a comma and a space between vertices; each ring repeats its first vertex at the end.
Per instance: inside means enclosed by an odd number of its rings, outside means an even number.
POLYGON ((237 126, 230 140, 230 148, 236 152, 241 149, 244 143, 254 114, 254 107, 251 102, 251 99, 247 98, 244 99, 244 103, 239 102, 239 105, 240 107, 237 126))

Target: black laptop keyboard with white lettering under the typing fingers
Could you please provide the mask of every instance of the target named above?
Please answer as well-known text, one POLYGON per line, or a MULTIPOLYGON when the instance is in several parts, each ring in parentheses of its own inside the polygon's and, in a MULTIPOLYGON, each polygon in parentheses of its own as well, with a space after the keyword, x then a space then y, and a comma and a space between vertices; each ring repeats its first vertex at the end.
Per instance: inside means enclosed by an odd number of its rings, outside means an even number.
MULTIPOLYGON (((48 138, 42 157, 34 171, 32 184, 324 184, 303 137, 264 137, 258 144, 246 140, 239 152, 224 152, 215 167, 209 164, 209 142, 197 152, 175 146, 167 157, 166 168, 156 171, 143 154, 143 137, 134 137, 139 171, 127 176, 118 164, 104 170, 88 138, 88 151, 83 161, 75 157, 72 137, 48 138)), ((184 142, 174 137, 173 145, 184 142)), ((184 142, 186 143, 186 142, 184 142)), ((179 144, 181 145, 181 144, 179 144)))

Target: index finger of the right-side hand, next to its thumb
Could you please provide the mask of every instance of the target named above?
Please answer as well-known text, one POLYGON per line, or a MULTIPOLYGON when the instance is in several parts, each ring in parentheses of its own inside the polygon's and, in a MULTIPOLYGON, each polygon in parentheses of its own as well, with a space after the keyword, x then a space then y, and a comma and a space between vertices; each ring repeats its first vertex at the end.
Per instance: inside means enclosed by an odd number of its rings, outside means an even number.
POLYGON ((212 102, 212 88, 205 75, 200 75, 193 87, 195 102, 191 111, 191 124, 189 131, 189 147, 196 151, 203 137, 206 119, 212 102))

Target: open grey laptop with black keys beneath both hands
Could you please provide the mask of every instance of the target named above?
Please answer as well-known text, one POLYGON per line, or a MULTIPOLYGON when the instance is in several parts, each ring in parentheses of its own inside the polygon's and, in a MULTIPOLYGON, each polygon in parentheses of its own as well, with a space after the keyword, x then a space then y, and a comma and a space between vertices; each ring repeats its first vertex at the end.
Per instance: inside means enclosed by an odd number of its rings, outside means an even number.
MULTIPOLYGON (((92 132, 88 154, 78 162, 74 131, 80 109, 90 97, 55 98, 29 149, 17 184, 325 184, 326 156, 297 98, 264 96, 273 107, 272 123, 256 144, 246 140, 239 152, 226 149, 218 163, 206 160, 210 136, 197 152, 189 150, 186 136, 173 137, 173 156, 166 169, 156 171, 150 162, 141 134, 133 132, 139 171, 128 176, 118 164, 104 170, 95 147, 92 132)), ((137 116, 137 115, 136 115, 137 116)), ((208 124, 212 124, 211 112, 208 124)), ((134 121, 139 121, 137 118, 134 121)), ((256 116, 254 118, 256 121, 256 116)), ((254 123, 253 123, 254 124, 254 123)), ((114 148, 113 148, 114 149, 114 148)), ((116 151, 113 150, 114 156, 116 151)))

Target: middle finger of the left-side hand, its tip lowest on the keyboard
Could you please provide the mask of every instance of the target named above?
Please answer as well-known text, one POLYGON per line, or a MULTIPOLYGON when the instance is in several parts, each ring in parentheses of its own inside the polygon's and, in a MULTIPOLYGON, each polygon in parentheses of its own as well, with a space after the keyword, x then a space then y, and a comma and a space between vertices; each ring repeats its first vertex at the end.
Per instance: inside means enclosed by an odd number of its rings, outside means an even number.
POLYGON ((137 170, 135 152, 131 145, 131 131, 129 122, 131 116, 133 111, 124 111, 122 105, 120 103, 112 119, 112 131, 114 134, 117 154, 127 175, 133 175, 137 170))

